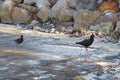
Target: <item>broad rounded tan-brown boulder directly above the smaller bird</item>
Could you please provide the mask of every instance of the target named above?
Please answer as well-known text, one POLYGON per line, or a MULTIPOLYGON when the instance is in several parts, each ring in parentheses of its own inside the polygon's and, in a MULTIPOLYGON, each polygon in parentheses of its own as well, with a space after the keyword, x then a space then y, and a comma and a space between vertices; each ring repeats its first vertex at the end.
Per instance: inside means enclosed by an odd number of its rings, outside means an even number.
POLYGON ((32 21, 31 14, 22 8, 15 7, 12 12, 13 23, 28 23, 32 21))

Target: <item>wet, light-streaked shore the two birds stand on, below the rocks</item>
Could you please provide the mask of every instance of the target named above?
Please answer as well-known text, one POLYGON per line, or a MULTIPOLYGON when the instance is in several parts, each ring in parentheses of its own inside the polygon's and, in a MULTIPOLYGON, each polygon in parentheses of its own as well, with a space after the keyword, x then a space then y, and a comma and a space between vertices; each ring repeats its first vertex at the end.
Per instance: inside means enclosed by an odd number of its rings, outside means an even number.
POLYGON ((120 80, 120 44, 95 39, 88 53, 75 42, 88 38, 0 26, 1 80, 120 80), (24 35, 24 42, 14 39, 24 35))

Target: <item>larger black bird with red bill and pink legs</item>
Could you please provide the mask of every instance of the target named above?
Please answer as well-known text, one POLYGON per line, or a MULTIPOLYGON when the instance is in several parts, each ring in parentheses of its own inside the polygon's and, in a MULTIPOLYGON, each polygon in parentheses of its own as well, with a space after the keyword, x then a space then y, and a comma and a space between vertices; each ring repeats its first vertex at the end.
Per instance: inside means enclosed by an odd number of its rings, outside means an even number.
POLYGON ((89 47, 93 43, 94 38, 96 38, 96 37, 92 34, 89 39, 85 39, 81 42, 76 42, 75 44, 83 45, 85 47, 86 51, 88 51, 87 47, 89 47))

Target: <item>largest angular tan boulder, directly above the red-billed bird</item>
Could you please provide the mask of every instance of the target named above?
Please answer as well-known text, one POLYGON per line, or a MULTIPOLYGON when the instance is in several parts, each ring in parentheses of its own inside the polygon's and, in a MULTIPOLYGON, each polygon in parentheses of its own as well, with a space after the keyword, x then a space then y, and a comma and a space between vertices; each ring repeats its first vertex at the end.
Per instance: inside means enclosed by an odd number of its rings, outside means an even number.
POLYGON ((81 30, 81 28, 88 27, 100 16, 99 12, 92 12, 87 10, 80 10, 74 13, 74 29, 81 30))

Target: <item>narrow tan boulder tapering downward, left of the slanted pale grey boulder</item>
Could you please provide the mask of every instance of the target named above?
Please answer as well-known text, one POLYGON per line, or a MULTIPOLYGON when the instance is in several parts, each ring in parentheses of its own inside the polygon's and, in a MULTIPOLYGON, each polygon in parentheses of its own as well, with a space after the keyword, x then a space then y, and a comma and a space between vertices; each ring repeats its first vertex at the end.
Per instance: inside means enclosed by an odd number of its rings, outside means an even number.
POLYGON ((47 6, 44 6, 40 9, 37 16, 42 19, 43 22, 46 21, 47 18, 50 16, 50 8, 47 6))

